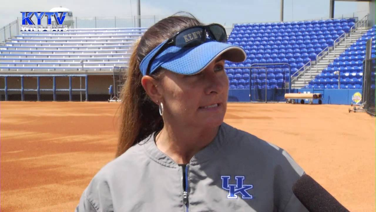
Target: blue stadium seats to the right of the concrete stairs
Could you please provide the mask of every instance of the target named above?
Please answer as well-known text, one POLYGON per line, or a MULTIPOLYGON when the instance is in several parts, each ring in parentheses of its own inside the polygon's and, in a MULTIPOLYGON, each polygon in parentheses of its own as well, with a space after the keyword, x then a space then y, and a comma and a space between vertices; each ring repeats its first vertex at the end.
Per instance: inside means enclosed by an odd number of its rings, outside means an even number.
MULTIPOLYGON (((366 42, 371 38, 373 38, 371 58, 375 58, 375 27, 376 25, 359 38, 356 43, 347 48, 340 57, 336 58, 321 74, 310 81, 305 88, 337 89, 338 78, 340 78, 340 89, 361 89, 366 42)), ((375 72, 372 72, 372 74, 372 81, 374 82, 375 72)))

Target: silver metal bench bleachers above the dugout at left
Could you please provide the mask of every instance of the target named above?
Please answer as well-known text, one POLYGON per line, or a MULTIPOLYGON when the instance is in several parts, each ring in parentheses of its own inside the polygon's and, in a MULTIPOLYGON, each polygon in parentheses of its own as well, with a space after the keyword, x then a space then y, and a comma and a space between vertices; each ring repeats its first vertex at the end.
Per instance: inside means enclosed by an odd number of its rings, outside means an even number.
POLYGON ((114 66, 127 66, 132 44, 145 31, 103 28, 22 32, 0 43, 0 72, 110 74, 114 66))

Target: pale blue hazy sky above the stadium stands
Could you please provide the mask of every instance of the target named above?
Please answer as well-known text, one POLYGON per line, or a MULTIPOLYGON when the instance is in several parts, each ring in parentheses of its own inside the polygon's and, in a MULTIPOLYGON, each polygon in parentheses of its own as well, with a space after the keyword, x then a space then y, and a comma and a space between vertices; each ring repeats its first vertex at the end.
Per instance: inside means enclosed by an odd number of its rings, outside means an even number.
MULTIPOLYGON (((190 12, 203 23, 276 22, 280 17, 280 0, 141 0, 141 15, 172 15, 190 12)), ((77 17, 114 17, 135 15, 137 0, 17 0, 0 5, 0 27, 21 17, 21 11, 49 11, 54 7, 71 9, 77 17)), ((364 17, 368 2, 335 2, 336 17, 364 17)), ((284 0, 284 20, 329 18, 329 0, 284 0)))

